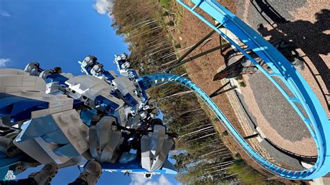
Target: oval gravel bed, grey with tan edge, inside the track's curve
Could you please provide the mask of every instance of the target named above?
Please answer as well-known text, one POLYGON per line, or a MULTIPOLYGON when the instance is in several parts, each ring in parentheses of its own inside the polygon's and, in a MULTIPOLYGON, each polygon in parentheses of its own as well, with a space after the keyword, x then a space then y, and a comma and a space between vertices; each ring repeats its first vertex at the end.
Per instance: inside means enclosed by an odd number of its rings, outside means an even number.
POLYGON ((316 155, 317 150, 311 138, 311 134, 309 134, 304 123, 291 106, 288 105, 288 102, 284 99, 283 95, 278 92, 277 88, 274 87, 261 72, 257 72, 253 75, 244 75, 244 81, 246 87, 241 87, 240 89, 242 90, 244 102, 246 103, 245 107, 252 113, 253 122, 258 124, 262 133, 269 138, 269 140, 272 140, 273 143, 283 147, 285 150, 306 156, 316 155), (250 78, 253 79, 251 80, 250 78), (253 85, 251 85, 251 81, 253 85), (271 88, 268 88, 268 91, 260 90, 263 89, 265 85, 271 88), (253 90, 253 86, 255 86, 256 89, 253 90), (269 97, 272 99, 269 99, 269 97), (273 102, 271 102, 271 100, 273 102), (283 108, 283 106, 285 107, 283 108), (282 109, 289 110, 291 113, 283 112, 282 109), (267 116, 264 115, 265 112, 268 112, 267 116), (287 117, 286 119, 288 120, 285 120, 280 113, 286 116, 292 115, 296 118, 292 119, 287 117), (274 116, 270 114, 274 114, 274 116), (276 123, 274 123, 274 120, 276 123), (297 120, 297 122, 294 122, 294 120, 297 120), (280 125, 278 125, 278 122, 280 125), (301 131, 301 129, 303 130, 301 131))

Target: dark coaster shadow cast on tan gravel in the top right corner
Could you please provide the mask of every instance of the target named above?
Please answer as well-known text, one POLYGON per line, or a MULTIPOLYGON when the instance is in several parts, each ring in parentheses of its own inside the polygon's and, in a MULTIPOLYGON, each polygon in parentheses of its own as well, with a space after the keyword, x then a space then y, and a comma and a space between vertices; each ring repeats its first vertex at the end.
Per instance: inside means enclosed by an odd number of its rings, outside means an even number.
MULTIPOLYGON (((315 18, 317 21, 315 23, 303 20, 292 22, 282 17, 265 0, 251 0, 251 3, 262 18, 274 28, 268 30, 260 24, 258 26, 258 31, 261 35, 264 37, 271 36, 272 39, 282 38, 284 40, 292 40, 297 47, 304 51, 319 72, 319 74, 313 74, 315 81, 317 81, 316 77, 320 76, 329 92, 330 70, 327 66, 327 62, 329 63, 329 61, 324 61, 320 54, 327 55, 330 52, 330 35, 324 33, 324 31, 329 31, 330 29, 330 10, 323 9, 319 13, 316 13, 315 18)), ((308 66, 307 63, 305 64, 306 67, 311 70, 311 67, 308 66)), ((320 87, 320 90, 322 90, 318 81, 317 85, 320 87)), ((322 90, 322 95, 327 102, 327 96, 330 96, 329 93, 322 90)), ((327 106, 329 109, 329 102, 327 102, 327 106)))

